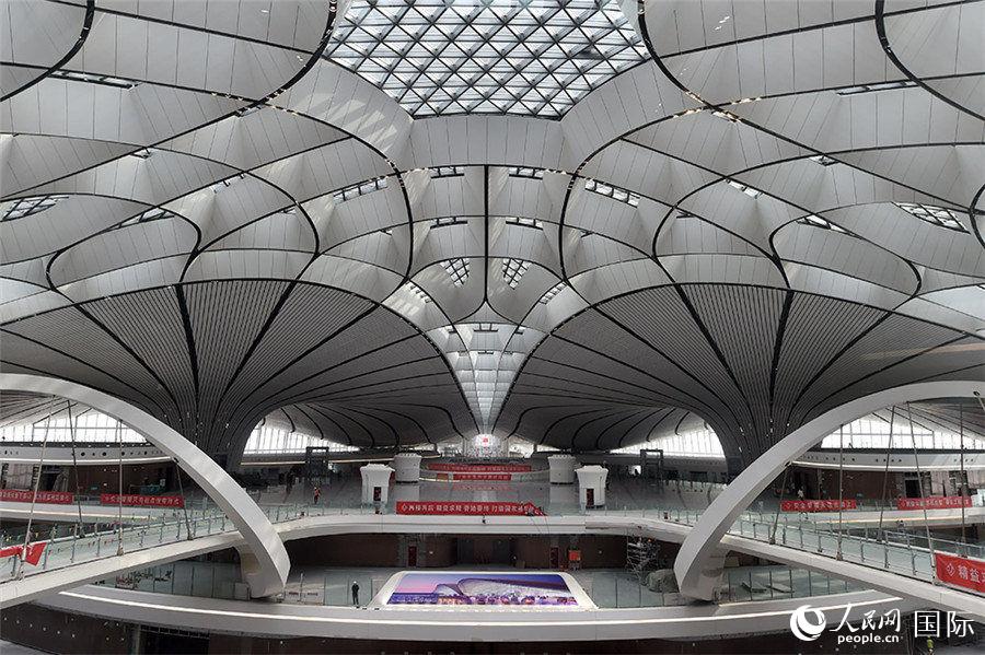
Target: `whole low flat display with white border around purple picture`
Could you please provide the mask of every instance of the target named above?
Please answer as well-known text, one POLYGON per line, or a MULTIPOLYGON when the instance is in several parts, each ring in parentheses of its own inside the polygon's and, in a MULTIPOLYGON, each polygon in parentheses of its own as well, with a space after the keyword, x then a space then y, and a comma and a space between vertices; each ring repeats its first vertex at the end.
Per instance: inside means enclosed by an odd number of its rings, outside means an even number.
POLYGON ((555 571, 402 571, 394 574, 370 607, 436 606, 460 609, 595 609, 584 589, 555 571))

